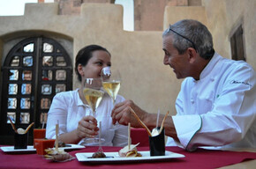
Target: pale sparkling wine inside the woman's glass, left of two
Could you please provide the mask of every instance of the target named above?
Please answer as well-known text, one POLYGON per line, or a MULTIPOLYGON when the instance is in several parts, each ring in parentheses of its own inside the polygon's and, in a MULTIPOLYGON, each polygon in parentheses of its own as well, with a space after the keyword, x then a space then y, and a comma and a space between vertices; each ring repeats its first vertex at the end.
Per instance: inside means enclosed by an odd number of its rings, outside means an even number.
POLYGON ((102 101, 104 92, 90 88, 85 88, 83 92, 85 98, 87 99, 87 103, 93 109, 93 112, 95 112, 96 108, 100 105, 102 101))

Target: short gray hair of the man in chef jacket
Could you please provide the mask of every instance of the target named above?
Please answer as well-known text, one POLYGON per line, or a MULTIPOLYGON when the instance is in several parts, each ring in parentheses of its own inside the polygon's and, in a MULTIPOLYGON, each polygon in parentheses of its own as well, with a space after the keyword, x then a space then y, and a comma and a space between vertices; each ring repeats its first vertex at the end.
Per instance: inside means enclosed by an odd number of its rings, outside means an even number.
POLYGON ((171 35, 173 46, 179 54, 184 54, 187 48, 195 50, 204 59, 210 59, 215 54, 212 34, 197 20, 184 19, 170 25, 162 33, 162 37, 171 35))

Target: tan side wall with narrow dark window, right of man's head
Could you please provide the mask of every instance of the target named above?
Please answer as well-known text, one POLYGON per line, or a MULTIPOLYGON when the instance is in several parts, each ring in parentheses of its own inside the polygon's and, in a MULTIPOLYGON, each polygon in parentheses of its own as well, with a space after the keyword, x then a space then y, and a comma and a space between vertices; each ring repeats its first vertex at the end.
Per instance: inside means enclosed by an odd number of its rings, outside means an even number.
POLYGON ((243 26, 246 62, 256 70, 256 1, 255 0, 205 0, 207 20, 214 36, 216 50, 231 58, 230 36, 237 26, 243 26))

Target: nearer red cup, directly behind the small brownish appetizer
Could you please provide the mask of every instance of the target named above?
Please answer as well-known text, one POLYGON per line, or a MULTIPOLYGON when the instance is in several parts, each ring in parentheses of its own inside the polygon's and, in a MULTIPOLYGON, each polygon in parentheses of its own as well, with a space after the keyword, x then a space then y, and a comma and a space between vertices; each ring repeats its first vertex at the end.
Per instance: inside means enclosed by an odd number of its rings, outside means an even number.
POLYGON ((43 139, 36 138, 34 139, 34 147, 36 149, 36 153, 38 155, 45 155, 45 150, 48 148, 53 148, 55 143, 55 139, 43 139))

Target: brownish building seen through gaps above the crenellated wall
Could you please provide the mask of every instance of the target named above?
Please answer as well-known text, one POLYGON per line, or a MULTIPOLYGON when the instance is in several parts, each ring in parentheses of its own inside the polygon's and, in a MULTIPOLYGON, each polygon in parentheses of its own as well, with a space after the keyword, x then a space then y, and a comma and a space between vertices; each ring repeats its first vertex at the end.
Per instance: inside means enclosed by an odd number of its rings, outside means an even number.
MULTIPOLYGON (((76 15, 83 3, 115 4, 115 0, 55 0, 59 14, 76 15)), ((201 0, 133 0, 134 31, 162 31, 166 6, 201 6, 201 0)))

